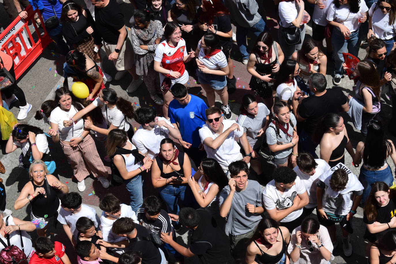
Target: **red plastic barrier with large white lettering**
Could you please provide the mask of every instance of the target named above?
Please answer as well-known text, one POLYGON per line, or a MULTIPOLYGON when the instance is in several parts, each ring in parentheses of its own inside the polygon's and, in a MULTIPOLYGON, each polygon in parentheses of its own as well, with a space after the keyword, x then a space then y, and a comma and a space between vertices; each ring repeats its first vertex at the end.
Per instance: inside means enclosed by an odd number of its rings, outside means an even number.
POLYGON ((28 14, 26 19, 17 17, 0 35, 1 51, 11 55, 13 58, 15 77, 17 79, 52 41, 44 27, 40 11, 38 9, 33 11, 32 6, 25 8, 25 11, 28 14), (43 33, 40 32, 34 21, 35 14, 38 14, 43 25, 43 33), (34 26, 32 30, 28 26, 29 22, 34 26))

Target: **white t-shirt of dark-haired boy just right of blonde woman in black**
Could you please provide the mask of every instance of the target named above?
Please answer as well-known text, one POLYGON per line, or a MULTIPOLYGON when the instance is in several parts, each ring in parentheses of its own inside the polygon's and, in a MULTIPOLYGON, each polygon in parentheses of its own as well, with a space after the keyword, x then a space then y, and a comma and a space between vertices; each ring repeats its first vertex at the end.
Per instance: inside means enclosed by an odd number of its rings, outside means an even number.
POLYGON ((59 215, 57 219, 59 223, 69 225, 73 237, 76 238, 78 235, 76 222, 80 217, 88 217, 89 219, 91 219, 95 224, 95 228, 97 228, 100 225, 100 219, 97 216, 95 209, 85 204, 81 205, 81 210, 78 213, 72 213, 70 211, 66 211, 65 209, 61 208, 61 211, 59 211, 59 215))

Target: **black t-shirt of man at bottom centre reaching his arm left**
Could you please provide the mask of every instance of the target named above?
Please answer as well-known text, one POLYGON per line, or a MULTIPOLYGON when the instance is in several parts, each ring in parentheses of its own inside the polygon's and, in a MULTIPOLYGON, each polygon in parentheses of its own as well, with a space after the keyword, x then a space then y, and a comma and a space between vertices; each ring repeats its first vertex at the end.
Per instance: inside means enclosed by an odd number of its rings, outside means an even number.
POLYGON ((197 212, 201 221, 192 232, 190 251, 200 258, 201 263, 227 263, 232 259, 228 237, 207 211, 198 209, 197 212))

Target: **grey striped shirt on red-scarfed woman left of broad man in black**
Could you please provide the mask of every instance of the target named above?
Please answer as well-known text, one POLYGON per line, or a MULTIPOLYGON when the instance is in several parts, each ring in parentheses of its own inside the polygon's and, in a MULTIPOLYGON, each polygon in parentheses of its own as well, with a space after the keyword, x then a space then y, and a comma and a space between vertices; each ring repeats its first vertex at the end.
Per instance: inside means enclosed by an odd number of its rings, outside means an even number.
MULTIPOLYGON (((293 125, 289 124, 289 130, 287 132, 289 133, 289 135, 293 136, 293 129, 297 125, 297 121, 296 121, 295 116, 292 113, 290 113, 289 122, 291 122, 293 125)), ((285 124, 284 127, 286 128, 287 125, 285 124)), ((291 139, 292 139, 292 137, 287 136, 280 129, 279 129, 279 135, 276 135, 276 126, 272 122, 268 124, 268 128, 267 128, 267 131, 265 131, 265 135, 267 136, 267 144, 268 145, 287 144, 287 143, 290 143, 291 139)), ((290 155, 292 150, 293 150, 293 147, 290 146, 290 148, 286 148, 284 150, 274 152, 275 158, 277 158, 277 159, 286 158, 287 156, 290 155)))

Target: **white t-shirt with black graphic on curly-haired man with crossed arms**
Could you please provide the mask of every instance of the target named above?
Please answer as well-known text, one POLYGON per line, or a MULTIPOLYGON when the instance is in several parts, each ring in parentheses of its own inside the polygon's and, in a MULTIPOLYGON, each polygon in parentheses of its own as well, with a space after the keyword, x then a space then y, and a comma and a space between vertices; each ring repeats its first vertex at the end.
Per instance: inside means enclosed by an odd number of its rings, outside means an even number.
MULTIPOLYGON (((290 189, 286 189, 281 194, 275 187, 275 180, 271 180, 263 190, 263 205, 265 209, 283 210, 293 205, 293 201, 298 194, 303 194, 306 190, 303 182, 299 177, 295 179, 295 183, 290 189)), ((280 220, 280 222, 290 222, 297 219, 303 213, 303 208, 291 212, 287 217, 280 220)))

